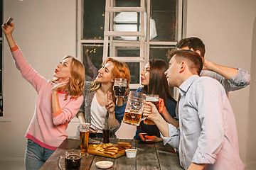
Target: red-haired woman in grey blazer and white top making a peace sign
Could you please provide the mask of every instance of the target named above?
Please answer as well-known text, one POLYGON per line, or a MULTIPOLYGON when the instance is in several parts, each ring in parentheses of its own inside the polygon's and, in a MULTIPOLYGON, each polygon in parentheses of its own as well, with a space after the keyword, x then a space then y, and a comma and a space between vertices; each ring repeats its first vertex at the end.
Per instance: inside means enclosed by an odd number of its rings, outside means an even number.
MULTIPOLYGON (((124 62, 108 58, 102 64, 95 81, 85 81, 84 101, 78 111, 80 123, 91 123, 89 137, 102 137, 102 119, 110 119, 110 137, 120 127, 124 115, 123 98, 114 98, 114 78, 127 79, 127 90, 131 81, 129 68, 124 62)), ((77 131, 77 135, 79 130, 77 131)))

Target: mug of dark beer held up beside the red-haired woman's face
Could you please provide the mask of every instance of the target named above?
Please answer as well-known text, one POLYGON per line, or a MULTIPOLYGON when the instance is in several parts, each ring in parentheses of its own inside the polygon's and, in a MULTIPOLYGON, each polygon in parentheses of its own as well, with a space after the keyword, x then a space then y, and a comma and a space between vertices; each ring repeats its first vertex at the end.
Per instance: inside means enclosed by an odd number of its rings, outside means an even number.
POLYGON ((114 96, 116 98, 124 98, 127 91, 127 79, 114 79, 114 96))

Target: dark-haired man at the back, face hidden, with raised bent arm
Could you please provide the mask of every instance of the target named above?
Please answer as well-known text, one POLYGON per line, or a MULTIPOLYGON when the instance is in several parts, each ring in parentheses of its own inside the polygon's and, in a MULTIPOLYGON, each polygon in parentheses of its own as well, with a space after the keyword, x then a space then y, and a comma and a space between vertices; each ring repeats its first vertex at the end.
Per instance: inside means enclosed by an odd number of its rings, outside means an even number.
MULTIPOLYGON (((201 57, 204 57, 206 53, 203 41, 196 37, 183 38, 177 43, 176 47, 181 50, 198 52, 201 57)), ((203 71, 200 76, 212 77, 220 81, 227 95, 229 91, 242 89, 249 85, 251 81, 250 73, 243 69, 220 66, 206 59, 203 61, 203 71)))

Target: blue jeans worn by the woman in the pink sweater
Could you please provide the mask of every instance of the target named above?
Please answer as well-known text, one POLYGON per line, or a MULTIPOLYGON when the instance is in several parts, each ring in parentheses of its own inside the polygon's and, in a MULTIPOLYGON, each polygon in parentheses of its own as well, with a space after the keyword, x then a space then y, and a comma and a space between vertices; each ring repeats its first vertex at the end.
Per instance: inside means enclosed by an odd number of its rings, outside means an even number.
POLYGON ((46 162, 46 160, 53 154, 53 150, 41 147, 36 142, 28 139, 26 153, 25 153, 25 169, 37 170, 46 162))

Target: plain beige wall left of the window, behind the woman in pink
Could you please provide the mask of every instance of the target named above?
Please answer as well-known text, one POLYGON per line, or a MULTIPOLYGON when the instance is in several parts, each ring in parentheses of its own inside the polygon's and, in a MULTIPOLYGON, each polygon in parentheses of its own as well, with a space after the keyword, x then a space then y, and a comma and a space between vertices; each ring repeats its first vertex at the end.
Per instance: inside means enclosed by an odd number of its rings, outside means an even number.
MULTIPOLYGON (((16 43, 46 79, 53 77, 65 55, 75 55, 75 8, 75 0, 4 1, 4 18, 14 18, 16 43)), ((23 157, 35 100, 36 91, 17 71, 4 40, 4 118, 0 121, 7 122, 0 122, 0 160, 23 157)))

